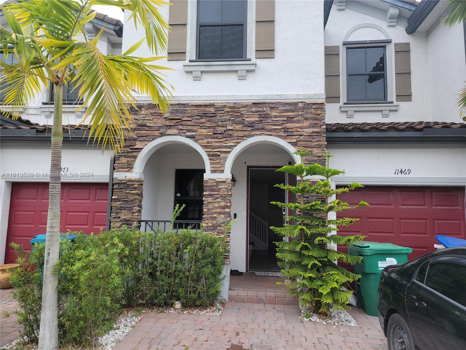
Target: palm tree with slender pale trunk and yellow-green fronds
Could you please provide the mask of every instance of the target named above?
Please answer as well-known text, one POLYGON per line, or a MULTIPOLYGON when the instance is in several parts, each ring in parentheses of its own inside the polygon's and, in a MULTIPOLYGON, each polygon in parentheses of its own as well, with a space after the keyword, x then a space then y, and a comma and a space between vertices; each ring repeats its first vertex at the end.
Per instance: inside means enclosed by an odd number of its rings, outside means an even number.
POLYGON ((52 157, 50 162, 47 239, 43 270, 40 323, 40 350, 58 349, 58 275, 53 269, 59 257, 60 189, 62 158, 62 91, 75 86, 82 106, 89 106, 83 122, 89 124, 88 136, 102 147, 118 151, 130 129, 130 108, 136 108, 135 94, 150 96, 162 112, 168 108, 171 85, 153 64, 161 57, 136 57, 131 54, 146 41, 152 53, 163 52, 168 24, 158 6, 162 0, 16 0, 1 6, 9 28, 0 27, 0 44, 5 57, 14 55, 13 63, 2 63, 0 93, 8 117, 18 118, 21 111, 44 85, 52 85, 54 114, 52 157), (96 12, 93 5, 112 5, 130 11, 130 19, 142 26, 146 37, 123 55, 103 55, 97 48, 102 31, 88 40, 84 25, 96 12))

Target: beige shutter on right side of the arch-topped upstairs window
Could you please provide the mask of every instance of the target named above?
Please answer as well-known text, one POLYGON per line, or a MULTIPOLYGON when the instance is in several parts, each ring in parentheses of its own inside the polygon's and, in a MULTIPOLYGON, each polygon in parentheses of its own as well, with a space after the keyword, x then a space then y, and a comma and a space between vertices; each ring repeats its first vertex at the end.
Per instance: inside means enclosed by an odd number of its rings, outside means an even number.
POLYGON ((395 43, 395 93, 397 101, 411 101, 411 53, 409 42, 395 43))

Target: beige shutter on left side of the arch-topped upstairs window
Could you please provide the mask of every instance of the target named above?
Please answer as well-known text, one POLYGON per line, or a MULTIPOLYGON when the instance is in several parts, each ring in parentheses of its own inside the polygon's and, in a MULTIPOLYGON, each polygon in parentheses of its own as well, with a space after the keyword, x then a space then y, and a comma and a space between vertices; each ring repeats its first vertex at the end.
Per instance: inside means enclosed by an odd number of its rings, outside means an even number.
POLYGON ((340 46, 325 47, 325 102, 340 103, 340 46))

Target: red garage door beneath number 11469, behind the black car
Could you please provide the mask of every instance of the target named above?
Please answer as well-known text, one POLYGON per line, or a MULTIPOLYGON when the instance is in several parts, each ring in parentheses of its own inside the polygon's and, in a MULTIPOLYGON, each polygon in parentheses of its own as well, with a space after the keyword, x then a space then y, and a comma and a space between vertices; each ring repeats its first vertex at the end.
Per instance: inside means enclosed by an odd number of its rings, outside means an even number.
POLYGON ((358 217, 340 234, 361 234, 368 241, 388 242, 414 249, 409 259, 434 250, 434 236, 466 239, 465 193, 461 187, 376 187, 367 186, 338 196, 343 202, 362 207, 338 213, 358 217))

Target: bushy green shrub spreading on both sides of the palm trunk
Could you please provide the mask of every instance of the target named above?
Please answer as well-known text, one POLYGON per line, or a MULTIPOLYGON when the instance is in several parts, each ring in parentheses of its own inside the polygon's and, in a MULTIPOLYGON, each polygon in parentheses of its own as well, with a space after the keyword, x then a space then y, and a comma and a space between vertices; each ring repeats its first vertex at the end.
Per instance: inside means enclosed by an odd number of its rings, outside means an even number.
MULTIPOLYGON (((12 272, 15 311, 23 326, 21 336, 37 342, 39 335, 42 272, 45 244, 32 252, 12 244, 19 268, 12 272)), ((124 272, 119 250, 103 245, 98 236, 78 235, 75 242, 62 240, 55 267, 58 279, 59 340, 62 345, 95 346, 99 333, 113 324, 121 308, 124 272)))

